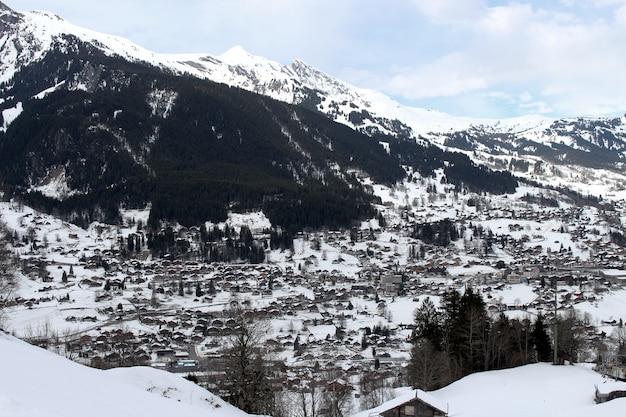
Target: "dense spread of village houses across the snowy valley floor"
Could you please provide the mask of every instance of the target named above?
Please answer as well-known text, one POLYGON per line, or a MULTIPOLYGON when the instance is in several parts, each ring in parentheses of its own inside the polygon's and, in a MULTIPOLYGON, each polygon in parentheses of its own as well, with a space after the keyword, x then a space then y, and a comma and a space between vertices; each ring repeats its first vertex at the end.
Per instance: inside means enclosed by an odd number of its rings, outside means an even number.
MULTIPOLYGON (((175 372, 209 372, 211 364, 219 362, 220 342, 237 330, 236 323, 223 314, 225 300, 237 298, 253 319, 296 323, 293 328, 285 324, 269 335, 266 343, 279 357, 288 358, 277 365, 285 387, 301 386, 312 377, 314 367, 339 370, 347 380, 374 371, 389 381, 396 379, 390 383, 400 384, 406 372, 411 323, 394 323, 385 316, 386 303, 394 297, 413 299, 417 307, 423 295, 438 296, 450 288, 471 285, 485 295, 494 313, 517 309, 543 311, 549 316, 555 307, 563 310, 593 302, 606 291, 621 288, 626 280, 626 251, 597 233, 581 209, 490 208, 463 214, 456 221, 469 230, 470 225, 494 218, 507 219, 508 223, 502 224, 508 226, 477 232, 475 241, 465 242, 465 251, 458 244, 427 246, 415 251, 421 252, 419 256, 408 256, 401 266, 397 246, 424 246, 406 236, 411 222, 425 218, 413 216, 405 224, 371 229, 356 238, 349 231, 320 233, 324 247, 339 254, 333 255, 337 269, 330 271, 316 267, 319 259, 315 255, 288 265, 225 265, 205 263, 194 256, 149 259, 145 248, 129 258, 115 247, 100 245, 85 256, 87 251, 76 249, 79 239, 73 236, 74 243, 67 247, 50 242, 48 256, 24 257, 22 270, 40 282, 37 292, 2 302, 8 307, 37 308, 41 303, 73 303, 74 291, 91 291, 95 311, 64 313, 68 323, 80 323, 85 329, 66 341, 68 356, 98 367, 151 364, 175 372), (521 225, 555 218, 561 220, 572 242, 589 248, 589 259, 580 260, 567 247, 546 251, 533 244, 533 231, 521 225), (383 241, 383 234, 392 238, 383 241), (402 243, 400 236, 404 237, 402 243), (355 245, 355 240, 367 241, 367 246, 355 245), (487 241, 515 261, 502 263, 493 251, 483 250, 487 241), (77 261, 55 262, 55 254, 77 261), (360 262, 358 273, 342 272, 342 254, 360 262), (450 270, 467 273, 451 274, 450 270), (503 304, 498 292, 511 285, 532 286, 535 299, 503 304), (359 308, 352 303, 355 298, 374 307, 359 308), (346 322, 365 317, 379 321, 384 331, 346 326, 346 322), (326 326, 323 334, 316 331, 320 326, 326 326)), ((193 240, 196 235, 187 229, 178 238, 193 240)), ((419 408, 410 403, 401 407, 404 411, 394 415, 412 415, 411 410, 419 408)), ((435 407, 432 415, 444 414, 435 407)))

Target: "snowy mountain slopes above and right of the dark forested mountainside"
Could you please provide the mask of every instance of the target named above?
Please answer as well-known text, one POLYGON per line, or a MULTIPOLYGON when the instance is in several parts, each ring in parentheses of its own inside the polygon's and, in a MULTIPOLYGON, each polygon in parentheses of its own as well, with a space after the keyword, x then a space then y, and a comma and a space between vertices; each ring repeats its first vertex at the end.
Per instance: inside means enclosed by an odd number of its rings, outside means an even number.
MULTIPOLYGON (((566 118, 553 120, 526 116, 503 120, 455 117, 434 110, 403 106, 372 90, 337 80, 296 60, 282 65, 253 56, 236 46, 218 56, 157 54, 132 42, 83 29, 46 12, 18 13, 0 3, 0 82, 11 86, 24 68, 40 62, 53 48, 71 50, 75 40, 108 56, 147 64, 168 73, 189 75, 239 87, 286 103, 314 109, 332 120, 366 134, 382 133, 412 138, 424 144, 461 151, 492 169, 546 185, 604 195, 626 183, 626 117, 566 118), (589 182, 588 169, 602 169, 601 178, 589 182), (584 181, 580 181, 580 178, 584 181)), ((41 94, 59 88, 88 89, 85 83, 55 79, 41 94)), ((11 97, 0 92, 3 123, 22 111, 21 103, 8 106, 11 97)))

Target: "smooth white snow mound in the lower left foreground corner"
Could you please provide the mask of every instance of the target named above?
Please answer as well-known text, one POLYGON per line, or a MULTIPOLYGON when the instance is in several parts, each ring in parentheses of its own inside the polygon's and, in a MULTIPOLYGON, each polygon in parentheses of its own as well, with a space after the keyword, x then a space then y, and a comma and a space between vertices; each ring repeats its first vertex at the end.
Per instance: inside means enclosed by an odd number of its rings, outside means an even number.
POLYGON ((148 367, 88 368, 0 333, 4 417, 244 417, 180 376, 148 367))

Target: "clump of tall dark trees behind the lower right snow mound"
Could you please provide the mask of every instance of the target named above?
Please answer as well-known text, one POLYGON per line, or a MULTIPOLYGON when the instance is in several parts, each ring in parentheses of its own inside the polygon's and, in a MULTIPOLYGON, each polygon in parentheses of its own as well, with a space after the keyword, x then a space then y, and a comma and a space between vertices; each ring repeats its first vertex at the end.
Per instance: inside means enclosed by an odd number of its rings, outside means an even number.
MULTIPOLYGON (((448 290, 437 307, 426 298, 414 313, 408 382, 433 390, 474 372, 510 368, 553 358, 553 341, 542 315, 495 317, 472 288, 448 290)), ((576 361, 583 347, 582 320, 570 312, 558 320, 559 361, 576 361)))

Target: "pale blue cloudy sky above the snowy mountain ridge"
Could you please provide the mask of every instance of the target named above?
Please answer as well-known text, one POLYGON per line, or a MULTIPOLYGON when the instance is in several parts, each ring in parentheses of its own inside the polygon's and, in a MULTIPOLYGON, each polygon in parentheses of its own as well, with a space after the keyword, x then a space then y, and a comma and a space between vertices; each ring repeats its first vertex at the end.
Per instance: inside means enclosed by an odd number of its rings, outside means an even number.
POLYGON ((4 0, 154 52, 242 46, 457 116, 626 113, 626 0, 4 0))

